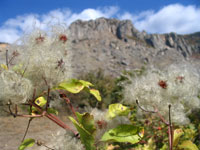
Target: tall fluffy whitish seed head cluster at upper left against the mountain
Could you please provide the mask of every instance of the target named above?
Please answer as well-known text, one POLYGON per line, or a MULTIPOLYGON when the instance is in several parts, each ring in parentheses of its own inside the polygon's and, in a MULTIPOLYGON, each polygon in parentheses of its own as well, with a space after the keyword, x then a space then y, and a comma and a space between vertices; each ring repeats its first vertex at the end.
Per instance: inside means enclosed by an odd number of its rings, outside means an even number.
POLYGON ((37 93, 46 90, 47 84, 53 87, 71 77, 71 52, 65 30, 35 30, 21 38, 20 43, 17 63, 37 93))

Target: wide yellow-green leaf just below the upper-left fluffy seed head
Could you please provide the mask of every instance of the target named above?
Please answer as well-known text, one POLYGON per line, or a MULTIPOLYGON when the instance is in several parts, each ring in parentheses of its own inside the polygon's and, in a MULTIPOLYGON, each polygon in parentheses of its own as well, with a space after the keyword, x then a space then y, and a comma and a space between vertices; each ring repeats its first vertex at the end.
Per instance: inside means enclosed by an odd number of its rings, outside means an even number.
POLYGON ((59 84, 58 89, 63 89, 63 90, 67 90, 71 93, 79 93, 81 90, 83 90, 85 86, 83 85, 83 83, 81 83, 79 80, 77 79, 71 79, 67 82, 62 82, 59 84))

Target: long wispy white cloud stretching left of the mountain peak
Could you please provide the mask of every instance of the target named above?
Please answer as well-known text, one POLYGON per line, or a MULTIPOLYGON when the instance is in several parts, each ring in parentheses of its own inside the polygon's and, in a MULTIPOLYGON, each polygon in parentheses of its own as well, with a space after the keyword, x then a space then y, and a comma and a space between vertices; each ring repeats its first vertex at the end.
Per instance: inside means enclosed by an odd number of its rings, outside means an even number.
POLYGON ((99 17, 110 18, 118 12, 118 7, 103 7, 97 9, 85 9, 80 13, 73 13, 69 9, 56 9, 47 14, 27 14, 18 16, 14 19, 8 19, 0 27, 0 41, 13 43, 23 33, 29 32, 34 28, 43 30, 48 29, 50 25, 60 23, 66 26, 77 19, 91 20, 99 17))

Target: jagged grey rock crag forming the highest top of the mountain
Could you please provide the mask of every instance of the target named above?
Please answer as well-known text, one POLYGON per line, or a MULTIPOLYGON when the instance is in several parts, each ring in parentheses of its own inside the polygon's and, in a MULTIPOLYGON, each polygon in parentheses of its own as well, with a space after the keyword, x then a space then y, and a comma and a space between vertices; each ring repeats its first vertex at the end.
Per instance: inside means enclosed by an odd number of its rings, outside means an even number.
POLYGON ((109 34, 124 39, 139 32, 130 20, 120 21, 106 18, 90 21, 77 20, 69 26, 69 30, 74 40, 109 38, 109 34))

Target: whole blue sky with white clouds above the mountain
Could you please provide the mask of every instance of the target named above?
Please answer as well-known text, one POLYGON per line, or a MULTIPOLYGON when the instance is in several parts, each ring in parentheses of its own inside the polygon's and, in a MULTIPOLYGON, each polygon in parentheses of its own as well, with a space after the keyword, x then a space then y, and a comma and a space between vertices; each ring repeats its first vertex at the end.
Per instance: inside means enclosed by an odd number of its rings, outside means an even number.
POLYGON ((148 33, 190 34, 200 31, 200 0, 0 0, 0 42, 99 17, 129 19, 148 33))

